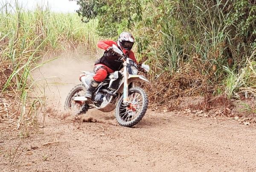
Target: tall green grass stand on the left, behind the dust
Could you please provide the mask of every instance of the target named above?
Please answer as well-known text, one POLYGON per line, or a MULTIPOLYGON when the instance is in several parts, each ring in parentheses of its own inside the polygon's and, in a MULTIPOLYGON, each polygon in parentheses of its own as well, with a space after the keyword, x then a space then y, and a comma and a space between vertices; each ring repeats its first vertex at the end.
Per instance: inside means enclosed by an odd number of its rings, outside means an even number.
POLYGON ((19 128, 35 118, 43 104, 40 98, 29 99, 35 83, 31 72, 42 65, 42 55, 79 46, 84 52, 94 51, 99 37, 97 20, 85 24, 77 14, 53 13, 43 7, 24 11, 19 4, 6 5, 0 8, 0 116, 19 128))

